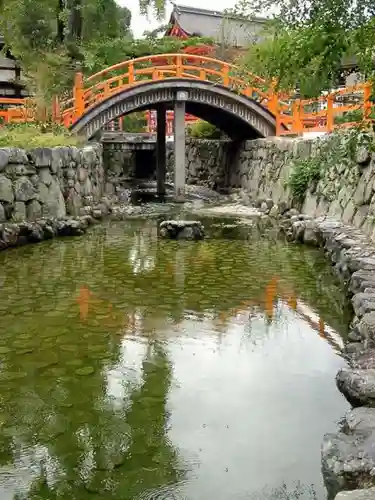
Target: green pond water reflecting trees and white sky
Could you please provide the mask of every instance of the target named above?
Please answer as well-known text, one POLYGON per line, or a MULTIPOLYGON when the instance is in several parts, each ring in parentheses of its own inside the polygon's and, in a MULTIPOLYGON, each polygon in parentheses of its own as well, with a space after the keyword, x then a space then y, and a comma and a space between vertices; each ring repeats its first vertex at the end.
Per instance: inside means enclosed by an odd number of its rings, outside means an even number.
POLYGON ((2 500, 325 499, 348 318, 319 253, 113 223, 0 254, 0 286, 2 500))

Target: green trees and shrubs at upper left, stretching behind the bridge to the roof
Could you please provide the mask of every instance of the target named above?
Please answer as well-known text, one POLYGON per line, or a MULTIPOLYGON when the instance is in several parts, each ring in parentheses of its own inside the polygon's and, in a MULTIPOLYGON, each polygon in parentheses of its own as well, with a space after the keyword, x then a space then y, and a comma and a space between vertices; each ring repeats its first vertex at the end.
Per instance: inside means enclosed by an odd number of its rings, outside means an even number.
MULTIPOLYGON (((140 0, 140 7, 161 14, 164 0, 140 0)), ((0 32, 20 61, 27 87, 42 102, 69 91, 77 69, 91 74, 204 41, 160 38, 160 30, 135 40, 130 21, 129 9, 115 0, 0 0, 0 32)))

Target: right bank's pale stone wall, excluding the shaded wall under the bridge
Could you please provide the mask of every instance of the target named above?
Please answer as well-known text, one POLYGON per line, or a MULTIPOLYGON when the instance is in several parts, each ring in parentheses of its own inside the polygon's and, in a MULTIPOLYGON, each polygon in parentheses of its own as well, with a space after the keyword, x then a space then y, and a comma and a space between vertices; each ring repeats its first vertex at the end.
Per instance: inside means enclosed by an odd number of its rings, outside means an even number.
MULTIPOLYGON (((319 142, 311 139, 248 141, 230 184, 243 189, 245 201, 270 198, 291 206, 295 203, 287 180, 293 163, 316 155, 318 148, 319 142)), ((352 224, 375 241, 375 156, 363 147, 353 156, 351 160, 348 151, 345 161, 327 162, 299 208, 312 217, 326 215, 352 224)))

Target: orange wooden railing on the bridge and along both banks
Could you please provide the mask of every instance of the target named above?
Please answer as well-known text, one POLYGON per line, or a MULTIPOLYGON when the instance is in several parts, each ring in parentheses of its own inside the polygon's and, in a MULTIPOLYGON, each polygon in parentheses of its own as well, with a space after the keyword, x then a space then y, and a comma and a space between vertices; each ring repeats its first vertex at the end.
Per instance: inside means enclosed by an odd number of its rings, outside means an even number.
MULTIPOLYGON (((84 79, 77 73, 72 97, 52 110, 53 120, 70 127, 88 109, 131 86, 168 78, 186 78, 221 84, 262 104, 276 116, 276 135, 331 132, 339 126, 337 117, 356 111, 369 121, 373 111, 370 83, 340 89, 318 99, 301 100, 281 96, 261 78, 241 73, 224 61, 192 54, 163 54, 121 62, 84 79)), ((34 121, 31 100, 0 99, 0 120, 5 123, 34 121), (14 107, 17 104, 17 107, 14 107)), ((355 122, 340 126, 352 126, 355 122)))

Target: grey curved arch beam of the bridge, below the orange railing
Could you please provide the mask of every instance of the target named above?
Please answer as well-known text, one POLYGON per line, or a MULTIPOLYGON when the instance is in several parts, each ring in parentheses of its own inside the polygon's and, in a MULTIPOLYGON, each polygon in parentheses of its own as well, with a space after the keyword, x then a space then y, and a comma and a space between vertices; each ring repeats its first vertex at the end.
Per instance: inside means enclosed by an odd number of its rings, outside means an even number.
POLYGON ((233 139, 256 139, 276 135, 276 119, 258 102, 207 81, 171 78, 131 86, 87 109, 71 130, 92 138, 106 123, 135 111, 173 109, 177 96, 186 112, 206 120, 233 139))

